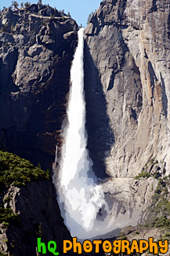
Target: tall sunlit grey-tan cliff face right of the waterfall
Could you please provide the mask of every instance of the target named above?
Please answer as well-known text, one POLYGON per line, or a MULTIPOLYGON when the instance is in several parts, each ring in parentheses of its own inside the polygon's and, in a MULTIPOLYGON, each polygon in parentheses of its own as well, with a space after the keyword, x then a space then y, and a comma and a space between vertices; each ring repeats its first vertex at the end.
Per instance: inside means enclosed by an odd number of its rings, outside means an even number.
POLYGON ((85 28, 89 154, 97 176, 112 177, 103 187, 114 226, 146 218, 157 181, 134 177, 150 158, 170 173, 169 7, 103 1, 85 28))

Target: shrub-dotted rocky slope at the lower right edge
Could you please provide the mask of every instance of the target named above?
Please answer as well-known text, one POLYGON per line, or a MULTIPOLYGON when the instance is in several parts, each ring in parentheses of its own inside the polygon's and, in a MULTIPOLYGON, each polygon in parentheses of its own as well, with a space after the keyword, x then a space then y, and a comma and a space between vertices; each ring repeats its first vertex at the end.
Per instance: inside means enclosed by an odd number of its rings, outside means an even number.
MULTIPOLYGON (((165 161, 151 158, 146 162, 142 172, 135 177, 136 180, 156 179, 156 187, 152 185, 152 197, 147 208, 143 224, 136 227, 128 226, 121 230, 120 239, 145 239, 154 237, 155 241, 169 239, 170 237, 170 175, 166 172, 165 161)), ((149 254, 147 251, 146 253, 149 254)))

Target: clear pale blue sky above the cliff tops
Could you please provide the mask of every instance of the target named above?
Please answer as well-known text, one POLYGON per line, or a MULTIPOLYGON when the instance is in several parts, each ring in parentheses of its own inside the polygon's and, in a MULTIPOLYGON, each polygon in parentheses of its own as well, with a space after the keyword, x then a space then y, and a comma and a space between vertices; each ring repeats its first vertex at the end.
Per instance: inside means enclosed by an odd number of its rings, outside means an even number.
MULTIPOLYGON (((21 2, 37 3, 38 0, 19 0, 16 2, 20 5, 21 2)), ((86 26, 89 13, 98 9, 100 2, 102 0, 42 0, 42 4, 49 4, 49 6, 56 7, 58 10, 64 9, 65 13, 70 12, 71 17, 77 21, 78 25, 82 24, 84 27, 86 26)), ((0 9, 3 6, 9 7, 11 3, 12 1, 9 0, 0 0, 0 9)))

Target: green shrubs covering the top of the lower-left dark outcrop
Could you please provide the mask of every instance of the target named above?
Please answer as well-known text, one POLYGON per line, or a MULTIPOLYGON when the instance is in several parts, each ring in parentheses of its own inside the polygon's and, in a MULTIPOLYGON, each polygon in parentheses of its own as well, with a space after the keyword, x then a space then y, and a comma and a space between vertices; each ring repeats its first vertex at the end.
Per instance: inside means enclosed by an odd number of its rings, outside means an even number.
MULTIPOLYGON (((46 172, 41 169, 41 165, 37 167, 30 161, 18 157, 16 154, 0 151, 0 193, 3 195, 5 188, 11 185, 22 187, 27 182, 34 180, 49 180, 49 170, 46 172)), ((3 196, 2 196, 3 197, 3 196)), ((16 223, 20 221, 18 214, 13 213, 8 202, 11 198, 1 199, 0 204, 0 224, 16 223), (5 207, 4 204, 7 203, 5 207)))

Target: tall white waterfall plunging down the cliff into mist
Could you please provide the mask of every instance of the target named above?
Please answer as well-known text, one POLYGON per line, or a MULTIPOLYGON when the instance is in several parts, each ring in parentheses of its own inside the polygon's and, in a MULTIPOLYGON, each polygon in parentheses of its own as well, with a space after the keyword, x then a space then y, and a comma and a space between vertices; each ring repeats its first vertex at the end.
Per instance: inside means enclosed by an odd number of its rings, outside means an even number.
POLYGON ((84 29, 78 32, 78 47, 71 67, 71 90, 67 106, 67 125, 63 128, 62 158, 54 183, 60 210, 72 236, 85 239, 106 233, 106 222, 99 221, 102 209, 107 213, 103 190, 96 185, 92 160, 87 150, 84 96, 84 29), (90 177, 89 177, 90 174, 90 177), (98 218, 97 218, 98 216, 98 218))

